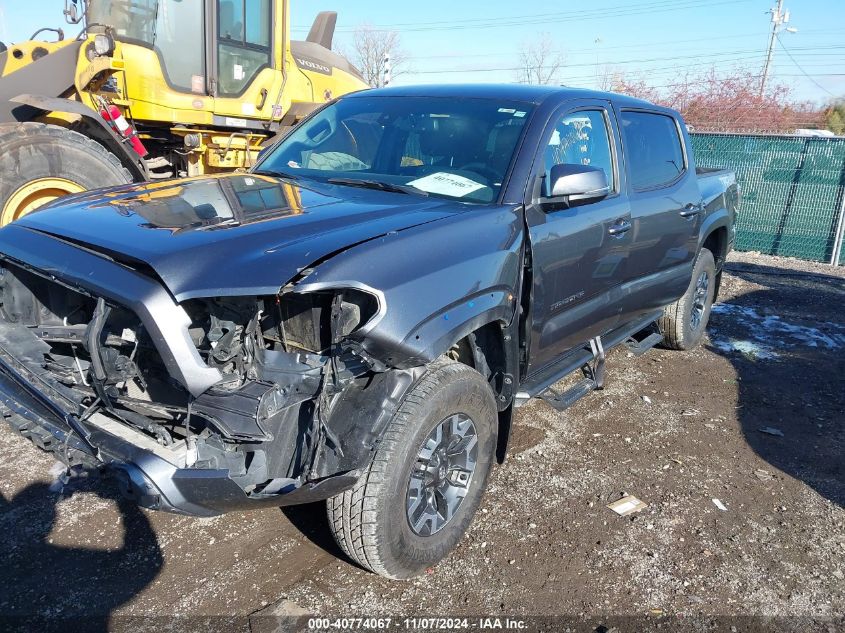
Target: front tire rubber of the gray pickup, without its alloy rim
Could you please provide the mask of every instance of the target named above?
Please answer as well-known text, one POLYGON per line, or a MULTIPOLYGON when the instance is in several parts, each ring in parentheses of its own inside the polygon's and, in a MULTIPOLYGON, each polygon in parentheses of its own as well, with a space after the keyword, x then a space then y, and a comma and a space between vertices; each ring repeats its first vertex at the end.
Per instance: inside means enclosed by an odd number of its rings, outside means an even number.
POLYGON ((417 576, 458 544, 478 509, 495 456, 496 401, 477 371, 442 358, 408 392, 388 425, 373 461, 354 488, 327 501, 329 525, 344 553, 387 578, 417 576), (416 534, 407 515, 407 490, 429 433, 456 413, 468 415, 478 437, 475 471, 467 494, 446 525, 416 534))

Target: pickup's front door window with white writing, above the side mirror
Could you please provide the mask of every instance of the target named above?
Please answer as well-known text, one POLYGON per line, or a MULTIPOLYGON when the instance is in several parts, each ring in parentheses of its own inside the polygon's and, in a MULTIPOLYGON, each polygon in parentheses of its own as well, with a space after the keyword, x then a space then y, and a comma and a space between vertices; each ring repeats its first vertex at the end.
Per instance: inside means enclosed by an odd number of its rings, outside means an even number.
POLYGON ((616 172, 607 119, 602 110, 579 110, 561 117, 543 151, 544 195, 550 195, 551 170, 555 165, 601 167, 616 192, 616 172))

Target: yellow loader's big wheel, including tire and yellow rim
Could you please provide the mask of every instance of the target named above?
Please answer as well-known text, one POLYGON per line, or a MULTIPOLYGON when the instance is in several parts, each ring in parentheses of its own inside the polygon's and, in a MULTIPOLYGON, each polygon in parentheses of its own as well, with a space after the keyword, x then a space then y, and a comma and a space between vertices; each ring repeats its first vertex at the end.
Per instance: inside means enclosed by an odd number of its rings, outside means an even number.
POLYGON ((57 125, 0 125, 0 226, 56 198, 132 182, 118 158, 94 140, 57 125))

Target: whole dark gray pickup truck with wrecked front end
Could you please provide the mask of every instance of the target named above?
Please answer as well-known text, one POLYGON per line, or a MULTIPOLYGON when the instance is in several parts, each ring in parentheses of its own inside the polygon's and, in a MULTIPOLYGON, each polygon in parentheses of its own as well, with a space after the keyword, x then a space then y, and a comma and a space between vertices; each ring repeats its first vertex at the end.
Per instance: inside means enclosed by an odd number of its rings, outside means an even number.
POLYGON ((325 500, 351 559, 407 578, 467 529, 515 408, 601 389, 615 346, 698 345, 737 202, 643 101, 346 96, 249 173, 0 230, 0 413, 146 508, 325 500))

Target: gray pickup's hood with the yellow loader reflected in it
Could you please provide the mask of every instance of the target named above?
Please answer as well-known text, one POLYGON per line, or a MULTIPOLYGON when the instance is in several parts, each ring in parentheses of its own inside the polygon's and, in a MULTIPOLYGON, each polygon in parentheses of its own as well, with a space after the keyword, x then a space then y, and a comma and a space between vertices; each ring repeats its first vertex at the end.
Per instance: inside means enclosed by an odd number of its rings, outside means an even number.
MULTIPOLYGON (((184 301, 272 294, 337 251, 466 209, 442 199, 230 174, 83 193, 14 226, 142 262, 184 301)), ((0 230, 0 251, 4 237, 0 230)))

